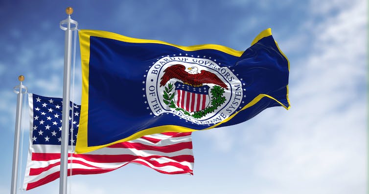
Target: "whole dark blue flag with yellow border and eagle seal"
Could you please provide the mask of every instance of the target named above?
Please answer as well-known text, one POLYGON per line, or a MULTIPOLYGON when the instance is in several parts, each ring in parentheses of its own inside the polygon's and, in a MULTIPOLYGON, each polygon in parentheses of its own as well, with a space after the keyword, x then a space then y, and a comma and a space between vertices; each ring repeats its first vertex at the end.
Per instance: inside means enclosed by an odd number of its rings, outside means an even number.
POLYGON ((140 136, 192 132, 289 109, 289 62, 261 32, 246 51, 81 30, 82 108, 77 153, 140 136))

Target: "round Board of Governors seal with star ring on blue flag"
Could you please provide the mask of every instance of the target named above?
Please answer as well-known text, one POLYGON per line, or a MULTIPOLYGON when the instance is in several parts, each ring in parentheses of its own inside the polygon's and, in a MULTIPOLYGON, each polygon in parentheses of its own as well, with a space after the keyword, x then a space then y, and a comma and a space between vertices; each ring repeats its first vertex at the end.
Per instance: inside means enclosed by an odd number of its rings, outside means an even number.
POLYGON ((199 125, 219 123, 239 110, 246 97, 233 71, 210 58, 163 56, 142 81, 147 109, 150 115, 170 113, 199 125))

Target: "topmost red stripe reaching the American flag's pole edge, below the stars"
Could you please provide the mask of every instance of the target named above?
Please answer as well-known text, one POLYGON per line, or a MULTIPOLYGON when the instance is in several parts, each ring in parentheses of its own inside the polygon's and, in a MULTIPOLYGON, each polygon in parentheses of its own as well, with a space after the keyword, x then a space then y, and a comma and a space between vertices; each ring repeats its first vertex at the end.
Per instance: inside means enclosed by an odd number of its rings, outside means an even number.
MULTIPOLYGON (((73 157, 83 158, 85 160, 89 160, 92 162, 100 162, 100 163, 113 163, 113 162, 129 162, 137 158, 141 158, 144 160, 149 160, 151 158, 159 158, 163 157, 160 155, 151 155, 147 157, 138 156, 138 155, 88 155, 88 154, 78 154, 73 155, 73 157)), ((193 155, 177 155, 177 156, 164 156, 169 159, 173 159, 175 161, 188 161, 193 162, 193 155)), ((51 159, 60 159, 60 154, 46 154, 46 153, 32 153, 32 160, 34 161, 48 161, 51 159), (55 158, 55 155, 59 155, 59 157, 55 158), (47 159, 46 159, 47 158, 47 159)))

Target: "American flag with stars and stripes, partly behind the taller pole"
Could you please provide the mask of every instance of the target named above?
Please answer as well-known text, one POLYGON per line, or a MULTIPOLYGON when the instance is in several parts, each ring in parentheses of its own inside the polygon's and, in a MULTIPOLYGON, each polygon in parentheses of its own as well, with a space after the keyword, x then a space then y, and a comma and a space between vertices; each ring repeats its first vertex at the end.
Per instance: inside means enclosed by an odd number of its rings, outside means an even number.
MULTIPOLYGON (((23 189, 30 190, 59 178, 62 99, 28 94, 31 130, 23 189)), ((75 146, 80 106, 70 102, 69 145, 75 146), (72 127, 73 126, 73 127, 72 127), (72 138, 71 138, 72 137, 72 138)), ((68 175, 100 174, 138 163, 164 174, 193 175, 191 133, 162 133, 117 143, 88 154, 72 154, 68 175)))

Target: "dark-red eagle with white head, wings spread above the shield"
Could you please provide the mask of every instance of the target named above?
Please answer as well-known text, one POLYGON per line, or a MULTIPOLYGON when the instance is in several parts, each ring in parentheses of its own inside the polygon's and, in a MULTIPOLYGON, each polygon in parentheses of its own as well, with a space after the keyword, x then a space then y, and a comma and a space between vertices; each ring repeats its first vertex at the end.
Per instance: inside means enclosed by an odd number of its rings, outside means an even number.
POLYGON ((187 68, 190 70, 188 72, 186 72, 185 69, 185 66, 181 64, 172 65, 166 68, 164 70, 164 75, 161 77, 160 86, 164 86, 171 78, 177 78, 193 87, 202 86, 204 83, 213 83, 228 90, 227 85, 211 72, 205 70, 200 70, 199 72, 197 67, 187 68))

